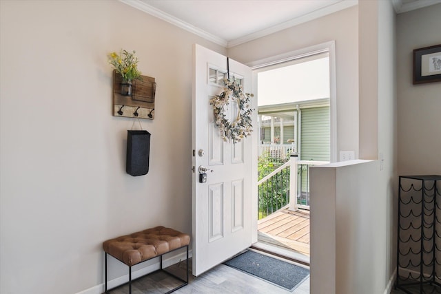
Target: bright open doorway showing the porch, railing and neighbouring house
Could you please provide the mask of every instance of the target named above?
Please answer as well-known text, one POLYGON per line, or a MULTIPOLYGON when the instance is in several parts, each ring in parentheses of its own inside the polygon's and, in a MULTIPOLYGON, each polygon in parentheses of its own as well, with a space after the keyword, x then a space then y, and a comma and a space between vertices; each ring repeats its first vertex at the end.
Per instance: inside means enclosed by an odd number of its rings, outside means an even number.
POLYGON ((333 161, 329 48, 254 67, 257 249, 309 264, 309 167, 333 161))

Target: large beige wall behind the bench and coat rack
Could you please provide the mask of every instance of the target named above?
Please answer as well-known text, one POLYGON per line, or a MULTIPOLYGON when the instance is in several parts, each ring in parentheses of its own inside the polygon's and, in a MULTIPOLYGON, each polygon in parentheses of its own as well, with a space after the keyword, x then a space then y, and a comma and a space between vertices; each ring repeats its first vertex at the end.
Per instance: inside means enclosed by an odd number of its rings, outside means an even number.
POLYGON ((0 13, 0 293, 78 293, 103 282, 103 240, 191 233, 192 45, 225 48, 119 1, 2 0, 0 13), (107 53, 121 48, 157 82, 146 176, 125 173, 133 119, 112 116, 107 53))

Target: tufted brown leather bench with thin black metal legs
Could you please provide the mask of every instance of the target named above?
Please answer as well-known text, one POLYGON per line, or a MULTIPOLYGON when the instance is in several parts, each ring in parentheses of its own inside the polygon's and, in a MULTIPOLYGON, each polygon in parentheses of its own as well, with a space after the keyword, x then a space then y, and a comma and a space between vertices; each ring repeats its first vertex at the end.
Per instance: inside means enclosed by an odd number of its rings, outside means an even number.
POLYGON ((129 293, 132 293, 132 266, 156 257, 159 258, 161 264, 159 271, 164 271, 183 282, 183 284, 173 288, 167 293, 172 293, 178 288, 187 285, 189 242, 189 235, 165 227, 154 227, 103 242, 105 254, 105 293, 107 293, 107 254, 129 266, 129 293), (178 249, 183 249, 184 247, 187 251, 185 280, 163 269, 163 255, 178 249))

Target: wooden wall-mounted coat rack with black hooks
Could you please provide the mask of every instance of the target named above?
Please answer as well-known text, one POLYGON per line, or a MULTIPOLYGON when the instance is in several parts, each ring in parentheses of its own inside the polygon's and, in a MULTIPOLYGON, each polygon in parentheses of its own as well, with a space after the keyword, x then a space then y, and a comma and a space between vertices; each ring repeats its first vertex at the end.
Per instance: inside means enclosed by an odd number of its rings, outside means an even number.
POLYGON ((154 119, 156 83, 151 76, 141 76, 132 81, 132 94, 121 94, 121 74, 113 72, 113 115, 131 118, 154 119))

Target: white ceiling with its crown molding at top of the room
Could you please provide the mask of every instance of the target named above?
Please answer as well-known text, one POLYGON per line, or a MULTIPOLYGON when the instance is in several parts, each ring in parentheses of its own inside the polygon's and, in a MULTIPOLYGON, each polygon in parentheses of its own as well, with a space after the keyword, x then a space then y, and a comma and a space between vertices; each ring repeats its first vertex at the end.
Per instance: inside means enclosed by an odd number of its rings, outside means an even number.
MULTIPOLYGON (((358 4, 358 0, 120 1, 225 47, 245 43, 358 4)), ((390 1, 397 13, 441 3, 441 0, 390 1)))

